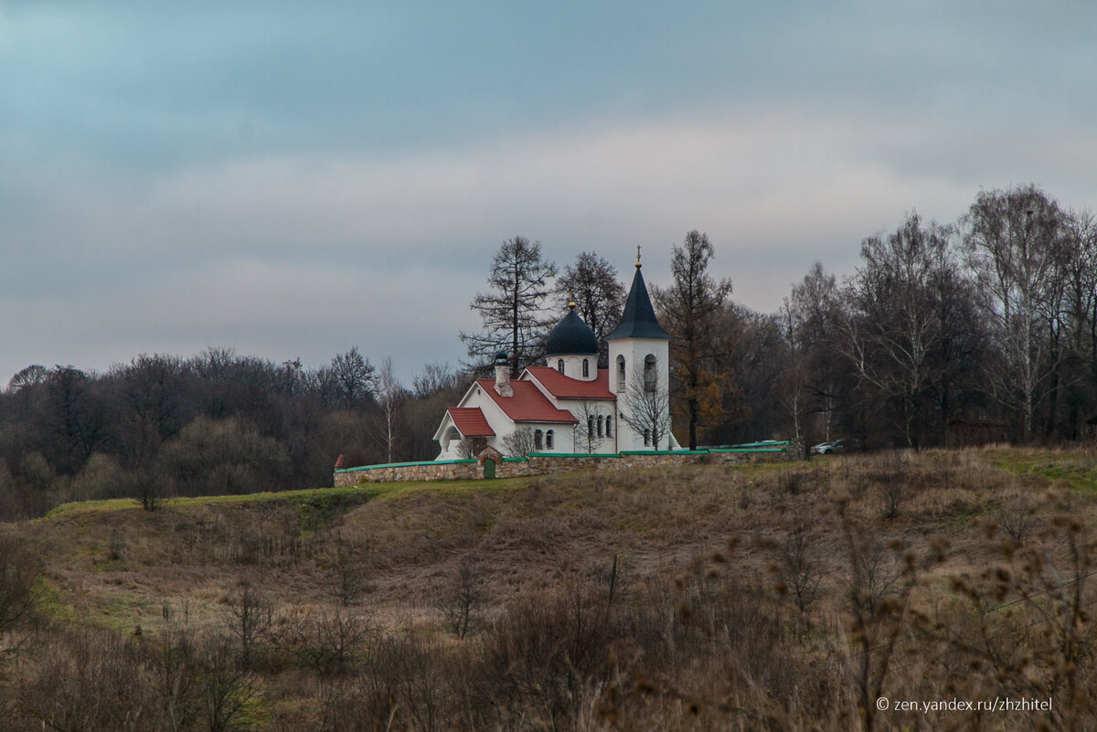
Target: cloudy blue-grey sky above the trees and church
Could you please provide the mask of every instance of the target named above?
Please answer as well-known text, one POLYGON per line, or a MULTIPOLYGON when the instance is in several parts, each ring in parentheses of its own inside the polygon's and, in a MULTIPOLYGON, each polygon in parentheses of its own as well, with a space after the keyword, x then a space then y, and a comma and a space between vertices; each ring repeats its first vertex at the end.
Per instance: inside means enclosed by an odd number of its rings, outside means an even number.
POLYGON ((773 311, 981 188, 1097 202, 1097 3, 0 0, 0 387, 207 346, 404 378, 514 235, 773 311))

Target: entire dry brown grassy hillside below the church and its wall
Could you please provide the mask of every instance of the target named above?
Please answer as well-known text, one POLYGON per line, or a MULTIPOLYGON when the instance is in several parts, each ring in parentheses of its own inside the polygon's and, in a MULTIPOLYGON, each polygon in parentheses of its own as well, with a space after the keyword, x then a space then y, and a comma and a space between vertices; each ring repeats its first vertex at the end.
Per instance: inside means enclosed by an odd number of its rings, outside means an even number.
POLYGON ((0 729, 1094 729, 1095 496, 1000 448, 69 504, 3 533, 0 729))

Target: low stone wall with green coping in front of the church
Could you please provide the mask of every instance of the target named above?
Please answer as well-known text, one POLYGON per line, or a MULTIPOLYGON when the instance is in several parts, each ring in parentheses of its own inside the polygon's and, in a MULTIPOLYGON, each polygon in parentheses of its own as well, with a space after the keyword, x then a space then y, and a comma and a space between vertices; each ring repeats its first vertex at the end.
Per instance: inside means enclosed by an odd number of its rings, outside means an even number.
MULTIPOLYGON (((484 477, 483 461, 444 460, 441 462, 398 462, 336 470, 335 484, 377 483, 403 480, 476 480, 484 477)), ((795 459, 787 448, 702 449, 660 453, 621 453, 612 455, 533 454, 528 458, 502 458, 495 469, 496 478, 548 476, 588 470, 635 470, 679 465, 716 465, 739 462, 776 462, 795 459)))

